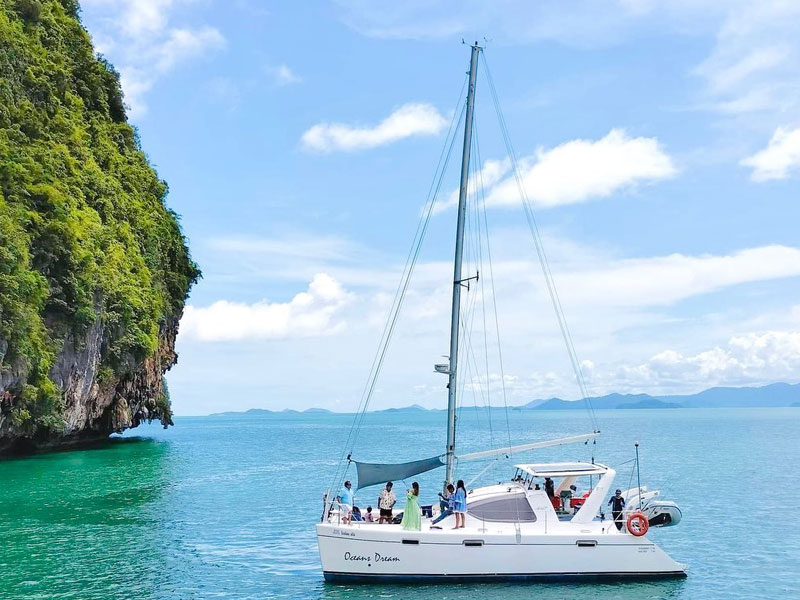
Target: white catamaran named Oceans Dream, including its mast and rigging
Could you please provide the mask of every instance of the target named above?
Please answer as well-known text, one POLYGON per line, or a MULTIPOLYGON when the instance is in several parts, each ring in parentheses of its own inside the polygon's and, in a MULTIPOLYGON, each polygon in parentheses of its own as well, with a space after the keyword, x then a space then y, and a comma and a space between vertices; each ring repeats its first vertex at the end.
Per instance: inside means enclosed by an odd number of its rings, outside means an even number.
MULTIPOLYGON (((448 376, 447 442, 439 456, 408 463, 355 463, 358 488, 402 480, 445 466, 445 486, 454 482, 457 464, 497 456, 511 456, 525 451, 562 444, 593 442, 599 431, 552 441, 496 448, 484 452, 457 455, 456 401, 459 352, 459 319, 461 291, 467 280, 462 278, 464 226, 469 183, 470 151, 473 145, 473 111, 478 59, 482 48, 471 46, 467 99, 464 106, 464 145, 461 180, 458 194, 458 221, 453 276, 452 316, 450 324, 449 362, 436 365, 436 371, 448 376)), ((491 91, 494 87, 489 80, 491 91)), ((496 101, 496 95, 495 101, 496 101)), ((498 112, 498 116, 502 116, 498 112)), ((460 123, 460 118, 459 121, 460 123)), ((507 139, 507 138, 506 138, 507 139)), ((509 144, 510 146, 510 144, 509 144)), ((513 148, 509 147, 513 161, 513 148)), ((516 168, 516 165, 515 165, 516 168)), ((518 180, 519 182, 519 180, 518 180)), ((520 192, 524 194, 520 182, 520 192)), ((527 207, 527 204, 526 204, 527 207)), ((528 209, 526 208, 526 211, 528 209)), ((528 213, 534 231, 535 221, 528 213)), ((535 237, 540 260, 540 241, 535 237)), ((543 270, 548 287, 552 286, 544 259, 543 270)), ((412 264, 413 268, 413 264, 412 264)), ((407 269, 410 277, 410 270, 407 269)), ((405 274, 404 274, 405 275, 405 274)), ((401 284, 401 288, 404 284, 401 284)), ((406 284, 407 285, 407 282, 406 284)), ((399 288, 400 289, 400 288, 399 288)), ((551 299, 563 322, 557 295, 551 299)), ((401 298, 402 300, 402 298, 401 298)), ((399 307, 397 308, 399 310, 399 307)), ((390 316, 394 327, 396 314, 390 316)), ((387 326, 388 327, 388 326, 387 326)), ((562 325, 562 332, 563 327, 562 325)), ((391 333, 391 329, 389 329, 391 333)), ((574 349, 565 335, 571 359, 574 349)), ((382 343, 388 344, 388 338, 382 343)), ((380 352, 379 352, 380 353, 380 352)), ((575 361, 573 360, 573 367, 575 361)), ((368 384, 367 401, 374 387, 378 369, 373 365, 372 386, 368 384)), ((584 396, 585 388, 580 381, 584 396)), ((363 411, 356 417, 360 425, 363 411)), ((347 448, 345 448, 345 452, 347 448)), ((343 453, 344 456, 345 453, 343 453)), ((638 466, 638 462, 637 462, 638 466)), ((338 487, 325 495, 321 522, 317 524, 317 540, 324 577, 334 582, 409 582, 409 581, 504 581, 603 578, 681 577, 685 566, 673 560, 646 537, 649 527, 677 525, 681 512, 674 502, 662 500, 657 491, 638 485, 624 491, 621 529, 614 520, 604 518, 604 502, 613 491, 616 471, 594 462, 559 462, 550 464, 518 464, 506 483, 469 490, 466 526, 454 529, 454 516, 445 517, 438 526, 432 516, 423 516, 419 531, 406 531, 399 524, 352 521, 346 522, 337 500, 338 487), (549 478, 549 485, 544 484, 549 478), (589 491, 578 497, 575 484, 589 491)), ((344 472, 334 479, 338 486, 344 472)), ((435 512, 435 508, 434 508, 435 512)))

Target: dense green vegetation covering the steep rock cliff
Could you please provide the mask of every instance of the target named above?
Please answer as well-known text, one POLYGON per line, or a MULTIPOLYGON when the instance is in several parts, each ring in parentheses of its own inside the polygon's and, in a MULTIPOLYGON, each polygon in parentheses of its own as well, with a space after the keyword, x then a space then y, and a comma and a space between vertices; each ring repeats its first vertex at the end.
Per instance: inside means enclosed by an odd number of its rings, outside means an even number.
POLYGON ((75 0, 0 0, 0 190, 0 400, 57 430, 65 341, 99 320, 100 379, 124 376, 199 276, 75 0))

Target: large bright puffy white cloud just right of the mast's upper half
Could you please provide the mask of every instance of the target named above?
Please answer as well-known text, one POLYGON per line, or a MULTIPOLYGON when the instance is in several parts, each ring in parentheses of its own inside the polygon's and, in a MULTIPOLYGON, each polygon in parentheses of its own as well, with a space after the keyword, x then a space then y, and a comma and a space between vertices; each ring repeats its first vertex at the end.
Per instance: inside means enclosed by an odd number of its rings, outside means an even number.
MULTIPOLYGON (((596 141, 572 140, 549 150, 540 148, 520 161, 520 171, 528 197, 539 207, 610 196, 677 172, 657 139, 632 138, 621 129, 596 141)), ((487 206, 519 202, 514 177, 498 182, 486 197, 487 206)))

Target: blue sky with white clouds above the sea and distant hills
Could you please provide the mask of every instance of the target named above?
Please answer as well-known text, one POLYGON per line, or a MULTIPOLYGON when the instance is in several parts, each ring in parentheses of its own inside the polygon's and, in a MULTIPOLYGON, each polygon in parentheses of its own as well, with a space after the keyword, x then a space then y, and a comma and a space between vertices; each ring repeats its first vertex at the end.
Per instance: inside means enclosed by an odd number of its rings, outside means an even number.
MULTIPOLYGON (((590 392, 800 380, 797 3, 84 0, 82 14, 204 273, 168 376, 176 413, 356 407, 462 38, 486 45, 590 392)), ((504 386, 493 359, 465 389, 575 398, 483 73, 477 96, 504 386)), ((375 408, 446 403, 432 365, 456 185, 451 168, 375 408)))

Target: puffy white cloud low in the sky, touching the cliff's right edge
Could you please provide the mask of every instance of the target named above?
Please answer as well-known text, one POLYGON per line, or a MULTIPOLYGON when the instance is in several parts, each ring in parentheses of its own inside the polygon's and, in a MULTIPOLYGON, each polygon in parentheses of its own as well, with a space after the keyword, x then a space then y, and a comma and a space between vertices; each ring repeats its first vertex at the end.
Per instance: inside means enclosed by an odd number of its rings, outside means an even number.
POLYGON ((181 319, 181 337, 216 342, 330 335, 344 328, 338 317, 349 298, 338 281, 320 273, 308 290, 288 302, 220 300, 207 307, 189 305, 181 319))

